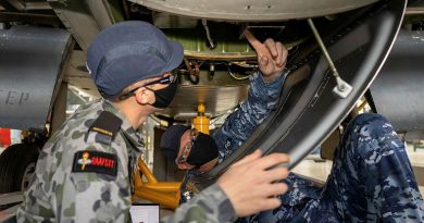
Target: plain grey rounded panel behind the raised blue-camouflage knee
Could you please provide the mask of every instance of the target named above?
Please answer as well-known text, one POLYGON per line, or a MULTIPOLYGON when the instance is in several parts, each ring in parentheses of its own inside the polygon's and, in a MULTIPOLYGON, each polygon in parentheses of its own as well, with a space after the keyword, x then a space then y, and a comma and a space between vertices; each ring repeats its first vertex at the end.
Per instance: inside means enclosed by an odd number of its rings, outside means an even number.
POLYGON ((424 33, 402 30, 370 87, 375 109, 398 132, 424 131, 424 33))

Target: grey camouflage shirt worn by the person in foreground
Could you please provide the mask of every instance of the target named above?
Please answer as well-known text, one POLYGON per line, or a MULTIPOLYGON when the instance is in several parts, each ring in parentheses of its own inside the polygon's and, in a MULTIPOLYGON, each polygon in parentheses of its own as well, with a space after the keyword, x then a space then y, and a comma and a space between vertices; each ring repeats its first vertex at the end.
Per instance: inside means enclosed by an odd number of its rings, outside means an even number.
MULTIPOLYGON (((112 103, 98 100, 82 106, 42 149, 30 186, 17 210, 17 222, 130 222, 128 179, 129 172, 137 166, 136 162, 133 166, 128 163, 137 160, 144 149, 141 137, 112 103), (112 112, 123 121, 121 133, 110 145, 96 143, 98 133, 88 132, 102 111, 112 112), (72 172, 74 154, 83 150, 116 154, 116 176, 72 172)), ((229 222, 235 219, 228 198, 215 185, 163 222, 229 222)))

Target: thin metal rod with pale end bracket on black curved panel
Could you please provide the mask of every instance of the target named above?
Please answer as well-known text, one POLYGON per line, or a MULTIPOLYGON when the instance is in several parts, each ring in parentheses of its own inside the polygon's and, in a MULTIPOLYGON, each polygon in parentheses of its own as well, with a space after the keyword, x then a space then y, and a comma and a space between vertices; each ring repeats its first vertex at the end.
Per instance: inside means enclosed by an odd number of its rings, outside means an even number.
POLYGON ((312 29, 312 33, 313 35, 315 36, 315 39, 321 48, 321 50, 323 51, 324 55, 325 55, 325 59, 327 59, 328 61, 328 65, 332 70, 332 73, 333 73, 333 76, 334 78, 336 78, 336 83, 337 83, 337 86, 335 88, 333 88, 333 94, 340 97, 340 98, 347 98, 349 96, 349 94, 352 91, 352 86, 349 85, 349 83, 345 82, 340 75, 338 74, 337 72, 337 69, 336 66, 334 65, 333 63, 333 60, 332 58, 329 57, 328 54, 328 51, 327 49, 325 48, 325 45, 320 36, 320 34, 317 33, 316 30, 316 27, 315 25, 313 24, 313 21, 312 18, 308 18, 308 24, 309 26, 311 27, 312 29))

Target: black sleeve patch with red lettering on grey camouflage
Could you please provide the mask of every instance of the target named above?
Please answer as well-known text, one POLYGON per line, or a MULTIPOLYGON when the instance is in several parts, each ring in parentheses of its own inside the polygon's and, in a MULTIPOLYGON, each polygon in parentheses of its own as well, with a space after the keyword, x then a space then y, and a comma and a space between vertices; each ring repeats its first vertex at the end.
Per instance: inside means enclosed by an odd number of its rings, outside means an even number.
POLYGON ((117 157, 101 151, 77 151, 72 164, 72 172, 95 172, 116 176, 117 157))

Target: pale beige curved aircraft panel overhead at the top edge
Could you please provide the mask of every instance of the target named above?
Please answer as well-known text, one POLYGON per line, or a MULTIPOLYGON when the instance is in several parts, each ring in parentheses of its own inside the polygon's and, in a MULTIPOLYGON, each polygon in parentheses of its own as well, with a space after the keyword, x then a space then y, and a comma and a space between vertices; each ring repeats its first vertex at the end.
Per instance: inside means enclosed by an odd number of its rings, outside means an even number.
POLYGON ((130 0, 159 12, 219 21, 282 21, 346 12, 376 0, 130 0))

